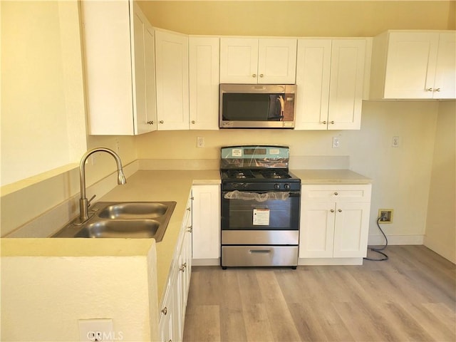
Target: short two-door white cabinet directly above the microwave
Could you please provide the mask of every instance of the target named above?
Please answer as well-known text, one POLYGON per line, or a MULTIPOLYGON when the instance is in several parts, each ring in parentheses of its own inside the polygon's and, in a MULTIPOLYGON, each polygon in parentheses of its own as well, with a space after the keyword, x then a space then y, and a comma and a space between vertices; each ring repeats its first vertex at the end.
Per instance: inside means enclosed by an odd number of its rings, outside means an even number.
POLYGON ((296 39, 220 38, 220 83, 295 82, 296 39))

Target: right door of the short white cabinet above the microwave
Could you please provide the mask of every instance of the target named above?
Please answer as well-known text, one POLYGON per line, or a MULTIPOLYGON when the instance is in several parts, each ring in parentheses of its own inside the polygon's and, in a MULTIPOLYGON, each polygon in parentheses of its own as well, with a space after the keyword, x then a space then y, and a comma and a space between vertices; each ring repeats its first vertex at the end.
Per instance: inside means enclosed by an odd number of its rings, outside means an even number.
POLYGON ((296 39, 259 39, 257 79, 264 84, 296 83, 296 39))

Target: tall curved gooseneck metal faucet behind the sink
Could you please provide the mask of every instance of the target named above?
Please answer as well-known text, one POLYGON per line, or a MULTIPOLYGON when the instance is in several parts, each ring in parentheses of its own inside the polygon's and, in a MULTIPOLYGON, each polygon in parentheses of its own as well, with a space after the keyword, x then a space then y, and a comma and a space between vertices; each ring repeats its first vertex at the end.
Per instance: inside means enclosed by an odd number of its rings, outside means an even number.
POLYGON ((117 183, 125 184, 127 182, 127 180, 125 180, 125 175, 123 174, 122 160, 120 160, 119 155, 113 150, 105 147, 97 147, 84 153, 84 155, 81 157, 81 163, 79 164, 79 182, 81 184, 81 199, 79 199, 79 219, 81 223, 88 220, 88 206, 90 204, 90 201, 95 197, 95 195, 93 195, 93 197, 90 199, 87 199, 86 197, 86 160, 91 154, 95 152, 107 152, 112 155, 115 159, 115 162, 117 162, 117 183))

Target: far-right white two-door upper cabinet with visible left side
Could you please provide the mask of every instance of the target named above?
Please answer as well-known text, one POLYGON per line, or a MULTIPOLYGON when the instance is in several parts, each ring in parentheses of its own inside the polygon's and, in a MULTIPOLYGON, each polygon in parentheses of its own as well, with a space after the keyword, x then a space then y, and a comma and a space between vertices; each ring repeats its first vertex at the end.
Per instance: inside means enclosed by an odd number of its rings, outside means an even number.
POLYGON ((387 31, 373 41, 371 98, 456 98, 456 31, 387 31))

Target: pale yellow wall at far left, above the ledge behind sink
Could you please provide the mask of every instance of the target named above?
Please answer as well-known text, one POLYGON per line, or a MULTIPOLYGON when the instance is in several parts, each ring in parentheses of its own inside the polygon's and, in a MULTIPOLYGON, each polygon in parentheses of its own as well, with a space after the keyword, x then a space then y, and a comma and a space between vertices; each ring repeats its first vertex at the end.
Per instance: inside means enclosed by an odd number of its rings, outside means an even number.
POLYGON ((86 150, 78 3, 1 1, 1 185, 86 150))

